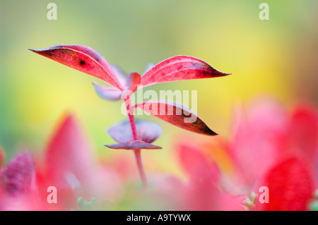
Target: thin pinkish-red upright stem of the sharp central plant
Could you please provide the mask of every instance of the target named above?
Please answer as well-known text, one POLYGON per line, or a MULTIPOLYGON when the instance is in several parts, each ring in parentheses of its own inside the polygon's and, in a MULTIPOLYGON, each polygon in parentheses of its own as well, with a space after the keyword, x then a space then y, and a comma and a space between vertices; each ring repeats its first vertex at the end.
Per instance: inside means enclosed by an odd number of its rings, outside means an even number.
MULTIPOLYGON (((126 103, 127 114, 128 114, 129 123, 131 126, 131 132, 132 132, 134 140, 138 140, 134 115, 131 114, 131 111, 130 111, 130 107, 131 107, 130 96, 128 98, 129 99, 124 99, 124 101, 126 103)), ((141 160, 141 150, 136 149, 134 150, 134 153, 135 153, 136 163, 139 169, 139 174, 141 176, 141 182, 143 183, 143 188, 148 189, 147 178, 146 178, 145 171, 143 170, 143 162, 141 160)))

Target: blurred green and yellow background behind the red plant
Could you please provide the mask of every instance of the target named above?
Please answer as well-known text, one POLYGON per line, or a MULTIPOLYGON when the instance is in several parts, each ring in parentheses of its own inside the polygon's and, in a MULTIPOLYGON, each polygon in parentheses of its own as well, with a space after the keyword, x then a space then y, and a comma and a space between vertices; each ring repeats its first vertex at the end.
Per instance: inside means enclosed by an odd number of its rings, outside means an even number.
MULTIPOLYGON (((42 154, 68 111, 83 126, 95 155, 127 154, 102 147, 114 142, 106 128, 125 119, 122 102, 105 102, 91 84, 100 80, 29 48, 85 44, 126 72, 139 73, 148 62, 178 54, 203 59, 232 75, 151 88, 197 90, 199 116, 226 137, 233 109, 261 95, 287 106, 297 101, 317 106, 317 9, 316 0, 0 0, 0 146, 6 161, 25 149, 42 154), (57 20, 47 19, 50 2, 57 4, 57 20), (262 2, 269 4, 269 20, 259 19, 262 2)), ((139 117, 163 126, 155 142, 163 150, 143 151, 146 171, 171 171, 173 140, 188 131, 139 117)))

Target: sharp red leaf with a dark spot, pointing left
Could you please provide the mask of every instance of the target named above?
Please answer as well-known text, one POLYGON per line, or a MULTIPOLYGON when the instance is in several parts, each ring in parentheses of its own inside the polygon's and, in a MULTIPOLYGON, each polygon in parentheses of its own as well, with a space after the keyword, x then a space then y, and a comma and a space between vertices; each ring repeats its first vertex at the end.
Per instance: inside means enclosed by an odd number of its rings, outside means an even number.
POLYGON ((110 64, 98 51, 84 45, 54 45, 45 49, 30 49, 37 54, 53 59, 78 71, 93 75, 106 83, 120 87, 119 80, 110 64))

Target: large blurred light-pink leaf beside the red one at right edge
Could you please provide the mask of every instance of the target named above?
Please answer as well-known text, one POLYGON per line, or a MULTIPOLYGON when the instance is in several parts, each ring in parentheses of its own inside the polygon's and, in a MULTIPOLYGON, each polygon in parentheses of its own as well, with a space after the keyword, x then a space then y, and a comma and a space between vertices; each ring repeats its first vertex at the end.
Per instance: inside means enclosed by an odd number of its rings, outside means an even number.
POLYGON ((281 159, 280 142, 285 136, 288 116, 273 99, 257 99, 247 110, 237 109, 237 123, 230 144, 236 176, 245 188, 254 191, 254 183, 281 159))

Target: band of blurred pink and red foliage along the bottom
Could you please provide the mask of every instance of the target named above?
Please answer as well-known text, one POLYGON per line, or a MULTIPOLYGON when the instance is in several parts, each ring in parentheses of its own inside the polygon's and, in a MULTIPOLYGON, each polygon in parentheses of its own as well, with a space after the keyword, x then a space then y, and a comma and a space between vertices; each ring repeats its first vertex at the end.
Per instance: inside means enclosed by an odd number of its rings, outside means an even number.
MULTIPOLYGON (((173 210, 308 210, 315 200, 318 176, 317 111, 298 104, 290 112, 274 100, 235 111, 232 138, 207 141, 176 139, 177 161, 185 180, 151 177, 150 190, 129 193, 126 181, 136 169, 124 159, 94 162, 76 118, 66 115, 50 138, 42 159, 18 153, 0 171, 1 210, 70 210, 105 208, 112 199, 163 204, 173 210), (58 190, 57 203, 47 188, 58 190), (260 202, 260 187, 269 202, 260 202)), ((3 159, 0 152, 0 161, 3 159)), ((117 202, 114 204, 116 205, 117 202)), ((116 209, 116 207, 115 207, 116 209)), ((148 207, 147 207, 148 209, 148 207)))

